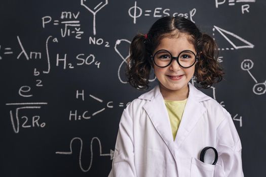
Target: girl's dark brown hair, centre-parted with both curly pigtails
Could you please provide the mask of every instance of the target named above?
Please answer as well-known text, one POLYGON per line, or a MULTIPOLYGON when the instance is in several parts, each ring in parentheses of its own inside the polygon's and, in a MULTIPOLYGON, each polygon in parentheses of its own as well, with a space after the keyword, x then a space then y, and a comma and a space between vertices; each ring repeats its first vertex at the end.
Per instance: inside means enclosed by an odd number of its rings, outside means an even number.
POLYGON ((176 37, 178 34, 188 35, 199 55, 195 65, 198 87, 208 89, 222 80, 224 72, 217 62, 218 48, 211 36, 202 34, 197 26, 183 17, 163 17, 157 20, 146 36, 137 34, 130 45, 130 56, 127 59, 126 75, 128 82, 139 90, 148 89, 149 74, 153 62, 151 55, 164 37, 176 37))

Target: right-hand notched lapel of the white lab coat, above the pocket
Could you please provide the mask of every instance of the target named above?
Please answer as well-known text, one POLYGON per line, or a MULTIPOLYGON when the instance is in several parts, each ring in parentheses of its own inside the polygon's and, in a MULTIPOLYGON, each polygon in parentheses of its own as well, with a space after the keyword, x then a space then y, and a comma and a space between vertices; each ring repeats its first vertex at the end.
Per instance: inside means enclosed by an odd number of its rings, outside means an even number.
POLYGON ((175 138, 177 149, 180 148, 189 132, 192 131, 198 120, 202 117, 202 114, 206 111, 206 108, 200 102, 210 99, 210 97, 197 90, 190 82, 188 86, 189 94, 175 138))

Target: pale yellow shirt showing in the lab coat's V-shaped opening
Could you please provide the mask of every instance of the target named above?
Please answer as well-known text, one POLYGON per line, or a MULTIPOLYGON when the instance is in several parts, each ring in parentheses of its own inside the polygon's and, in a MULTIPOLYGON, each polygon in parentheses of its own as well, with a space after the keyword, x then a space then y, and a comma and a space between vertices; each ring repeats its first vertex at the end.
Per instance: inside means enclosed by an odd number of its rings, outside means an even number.
POLYGON ((168 111, 174 140, 184 112, 186 100, 187 99, 181 101, 164 100, 166 109, 168 111))

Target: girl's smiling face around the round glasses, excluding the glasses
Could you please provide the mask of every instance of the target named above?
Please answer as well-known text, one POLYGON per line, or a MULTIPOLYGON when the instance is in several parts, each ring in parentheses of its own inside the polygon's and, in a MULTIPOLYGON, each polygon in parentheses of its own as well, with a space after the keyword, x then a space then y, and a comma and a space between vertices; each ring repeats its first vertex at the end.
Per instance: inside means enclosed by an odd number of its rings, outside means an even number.
MULTIPOLYGON (((185 34, 179 35, 178 38, 164 37, 153 55, 162 49, 169 51, 173 57, 177 57, 184 50, 190 50, 196 54, 194 45, 187 40, 187 37, 185 34)), ((189 68, 182 68, 176 60, 172 60, 171 64, 164 68, 154 64, 154 71, 160 82, 161 92, 162 89, 168 93, 176 91, 186 92, 188 90, 187 83, 191 80, 195 71, 195 64, 189 68)))

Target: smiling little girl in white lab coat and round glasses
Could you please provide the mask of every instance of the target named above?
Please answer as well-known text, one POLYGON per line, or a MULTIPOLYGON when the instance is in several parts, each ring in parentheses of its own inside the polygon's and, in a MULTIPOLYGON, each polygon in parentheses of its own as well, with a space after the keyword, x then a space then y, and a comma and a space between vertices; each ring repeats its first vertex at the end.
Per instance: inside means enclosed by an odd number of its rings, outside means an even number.
POLYGON ((182 17, 163 17, 133 38, 129 83, 148 89, 153 69, 159 84, 124 110, 109 176, 244 176, 231 115, 189 82, 207 89, 222 80, 217 53, 212 37, 182 17))

